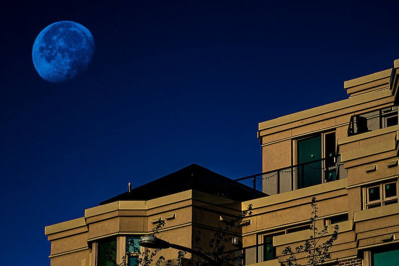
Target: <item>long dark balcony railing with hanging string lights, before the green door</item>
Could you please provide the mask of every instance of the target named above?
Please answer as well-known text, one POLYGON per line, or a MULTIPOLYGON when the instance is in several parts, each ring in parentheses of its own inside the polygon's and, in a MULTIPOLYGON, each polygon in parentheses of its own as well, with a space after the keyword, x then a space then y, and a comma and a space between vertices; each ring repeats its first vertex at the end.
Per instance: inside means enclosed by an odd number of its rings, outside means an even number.
POLYGON ((341 156, 297 164, 274 171, 236 179, 269 195, 306 188, 348 177, 341 156))

